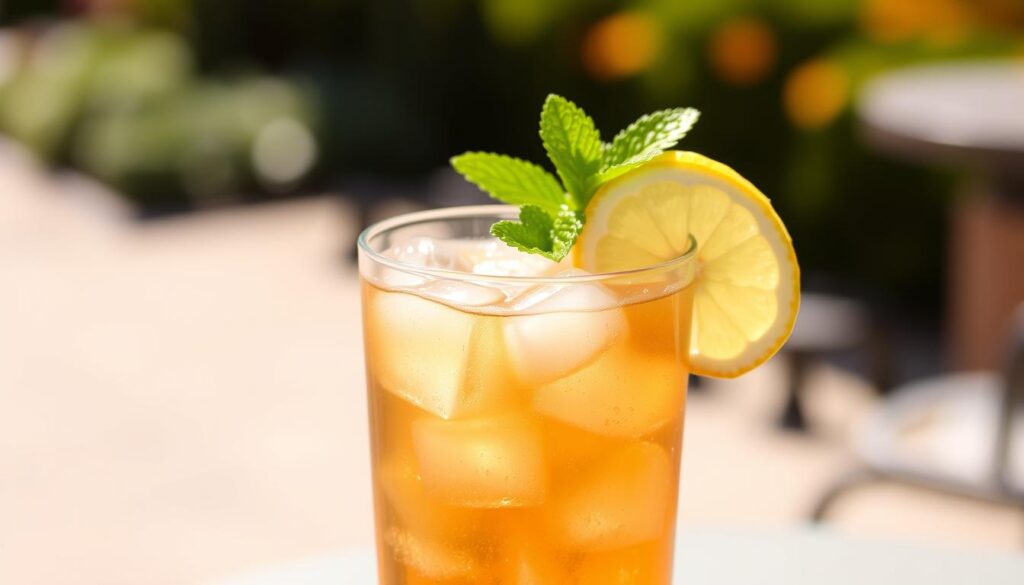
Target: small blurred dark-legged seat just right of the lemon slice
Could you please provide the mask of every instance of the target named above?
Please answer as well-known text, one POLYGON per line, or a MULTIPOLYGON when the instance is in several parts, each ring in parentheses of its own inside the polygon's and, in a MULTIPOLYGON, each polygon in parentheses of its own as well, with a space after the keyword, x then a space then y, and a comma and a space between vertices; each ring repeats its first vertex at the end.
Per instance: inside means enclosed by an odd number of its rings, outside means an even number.
POLYGON ((788 430, 807 430, 803 396, 807 373, 815 363, 842 352, 856 352, 865 359, 867 376, 876 388, 889 387, 891 368, 888 343, 871 311, 861 301, 821 293, 804 293, 800 316, 784 352, 788 388, 778 425, 788 430))

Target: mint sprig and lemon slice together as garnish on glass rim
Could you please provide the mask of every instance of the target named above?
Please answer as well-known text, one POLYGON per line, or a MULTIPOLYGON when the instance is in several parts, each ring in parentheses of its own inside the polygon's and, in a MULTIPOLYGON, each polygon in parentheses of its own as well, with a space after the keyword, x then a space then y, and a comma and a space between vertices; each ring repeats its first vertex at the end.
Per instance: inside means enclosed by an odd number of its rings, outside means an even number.
POLYGON ((696 153, 667 152, 696 122, 692 109, 643 116, 610 142, 583 110, 549 95, 541 139, 558 179, 489 153, 452 165, 492 197, 520 206, 519 221, 490 233, 524 252, 607 273, 649 266, 697 242, 689 366, 731 378, 771 358, 793 331, 800 266, 771 203, 731 168, 696 153), (593 200, 593 201, 591 201, 593 200), (585 226, 586 223, 586 226, 585 226))

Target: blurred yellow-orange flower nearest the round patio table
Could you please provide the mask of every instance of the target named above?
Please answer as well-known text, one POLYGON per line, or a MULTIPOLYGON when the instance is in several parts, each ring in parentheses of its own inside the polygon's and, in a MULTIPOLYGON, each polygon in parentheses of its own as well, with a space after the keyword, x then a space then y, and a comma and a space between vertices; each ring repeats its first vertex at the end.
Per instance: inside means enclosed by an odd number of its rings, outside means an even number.
POLYGON ((807 61, 790 73, 782 105, 794 124, 821 128, 836 119, 849 101, 850 78, 837 64, 823 58, 807 61))

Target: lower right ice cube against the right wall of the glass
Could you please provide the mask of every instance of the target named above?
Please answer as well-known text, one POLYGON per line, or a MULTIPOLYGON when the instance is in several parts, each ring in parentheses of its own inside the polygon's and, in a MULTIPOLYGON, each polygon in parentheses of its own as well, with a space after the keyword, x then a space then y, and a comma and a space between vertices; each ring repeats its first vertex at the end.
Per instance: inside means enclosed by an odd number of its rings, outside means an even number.
POLYGON ((547 505, 547 533, 556 544, 588 552, 666 537, 676 498, 674 472, 660 447, 626 445, 559 486, 547 505))

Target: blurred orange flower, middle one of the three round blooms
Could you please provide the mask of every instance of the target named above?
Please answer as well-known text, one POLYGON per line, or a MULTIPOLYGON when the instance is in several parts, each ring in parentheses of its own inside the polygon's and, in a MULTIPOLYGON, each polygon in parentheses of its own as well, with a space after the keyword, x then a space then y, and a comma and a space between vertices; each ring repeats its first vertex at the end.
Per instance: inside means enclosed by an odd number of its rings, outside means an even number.
POLYGON ((708 44, 712 69, 726 83, 753 85, 775 67, 775 32, 764 22, 738 17, 718 27, 708 44))

